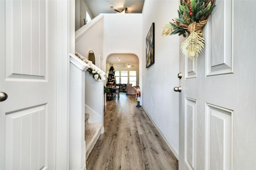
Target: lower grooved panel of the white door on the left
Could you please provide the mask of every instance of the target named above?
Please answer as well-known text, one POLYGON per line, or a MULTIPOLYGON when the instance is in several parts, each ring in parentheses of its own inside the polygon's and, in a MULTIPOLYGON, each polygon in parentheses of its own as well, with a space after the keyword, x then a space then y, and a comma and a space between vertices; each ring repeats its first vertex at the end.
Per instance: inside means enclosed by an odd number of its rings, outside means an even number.
POLYGON ((6 169, 46 167, 47 105, 6 113, 6 169))

